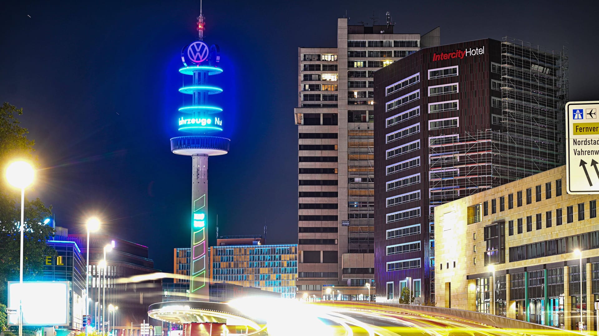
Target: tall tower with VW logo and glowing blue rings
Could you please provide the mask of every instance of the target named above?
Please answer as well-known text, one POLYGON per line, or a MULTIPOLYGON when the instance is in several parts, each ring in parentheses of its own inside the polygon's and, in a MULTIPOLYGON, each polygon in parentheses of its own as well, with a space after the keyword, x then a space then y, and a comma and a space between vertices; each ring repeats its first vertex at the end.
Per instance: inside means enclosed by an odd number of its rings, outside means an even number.
MULTIPOLYGON (((183 47, 181 60, 183 75, 192 77, 189 85, 180 93, 192 96, 192 103, 179 109, 179 131, 190 133, 171 139, 171 151, 192 157, 192 214, 191 266, 189 270, 190 300, 208 301, 206 251, 208 249, 208 157, 223 155, 229 151, 231 140, 214 136, 222 132, 222 119, 217 117, 222 108, 210 105, 208 97, 222 92, 221 88, 208 84, 211 75, 222 72, 217 64, 220 51, 216 44, 208 47, 204 40, 204 16, 200 9, 198 39, 183 47)), ((184 76, 185 78, 187 76, 184 76)), ((184 80, 184 83, 186 81, 184 80)))

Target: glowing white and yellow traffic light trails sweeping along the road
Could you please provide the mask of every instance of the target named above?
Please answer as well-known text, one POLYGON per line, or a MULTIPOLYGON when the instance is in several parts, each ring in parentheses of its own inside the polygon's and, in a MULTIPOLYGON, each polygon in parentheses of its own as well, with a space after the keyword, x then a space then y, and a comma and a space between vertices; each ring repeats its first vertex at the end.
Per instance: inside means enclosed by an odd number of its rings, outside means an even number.
POLYGON ((301 303, 241 299, 229 303, 267 321, 270 336, 521 336, 588 335, 563 329, 504 329, 446 314, 367 303, 301 303))

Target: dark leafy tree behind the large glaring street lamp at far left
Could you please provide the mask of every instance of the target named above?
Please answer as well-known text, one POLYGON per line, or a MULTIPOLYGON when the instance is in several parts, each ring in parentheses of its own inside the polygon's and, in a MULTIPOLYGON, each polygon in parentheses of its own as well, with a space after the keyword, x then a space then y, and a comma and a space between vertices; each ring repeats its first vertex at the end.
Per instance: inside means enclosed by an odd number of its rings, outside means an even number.
MULTIPOLYGON (((19 280, 21 216, 20 193, 4 179, 7 165, 17 159, 34 164, 34 140, 27 139, 27 129, 19 126, 17 116, 23 109, 9 103, 0 107, 0 303, 7 302, 7 281, 19 280)), ((55 255, 56 251, 46 245, 54 229, 42 224, 52 215, 52 207, 44 203, 25 199, 25 235, 23 241, 23 280, 35 280, 41 276, 44 256, 55 255)))

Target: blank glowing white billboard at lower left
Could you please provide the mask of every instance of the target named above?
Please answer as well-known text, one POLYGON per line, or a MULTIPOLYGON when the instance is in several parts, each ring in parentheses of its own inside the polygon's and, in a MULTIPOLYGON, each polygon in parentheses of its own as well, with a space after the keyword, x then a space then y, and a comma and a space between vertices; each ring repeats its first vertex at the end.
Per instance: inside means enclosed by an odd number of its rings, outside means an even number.
MULTIPOLYGON (((69 325, 68 281, 8 282, 8 308, 23 305, 23 325, 69 325)), ((8 315, 9 325, 19 324, 19 314, 8 315)))

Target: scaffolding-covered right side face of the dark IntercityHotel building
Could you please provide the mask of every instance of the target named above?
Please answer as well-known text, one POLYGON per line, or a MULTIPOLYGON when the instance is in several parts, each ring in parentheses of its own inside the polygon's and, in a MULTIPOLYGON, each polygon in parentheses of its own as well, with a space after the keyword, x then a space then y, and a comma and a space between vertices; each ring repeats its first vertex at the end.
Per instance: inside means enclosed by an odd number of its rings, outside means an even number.
POLYGON ((501 103, 495 119, 494 187, 565 163, 568 53, 504 37, 501 103))

